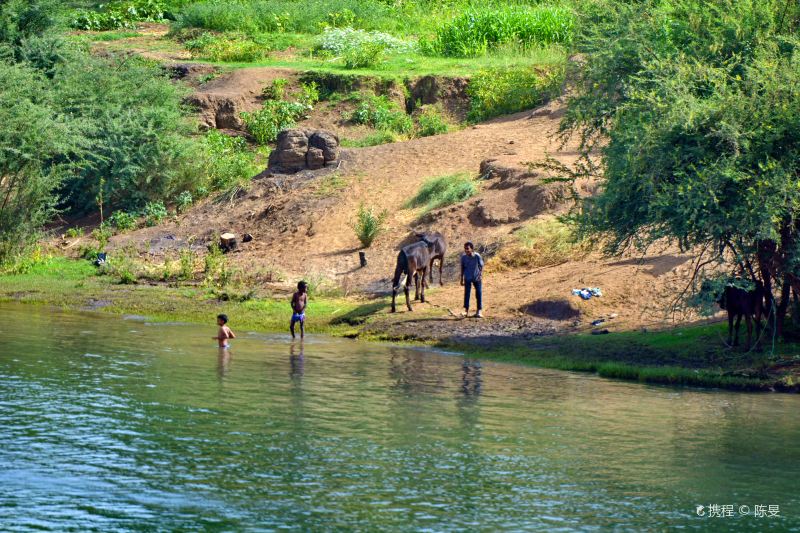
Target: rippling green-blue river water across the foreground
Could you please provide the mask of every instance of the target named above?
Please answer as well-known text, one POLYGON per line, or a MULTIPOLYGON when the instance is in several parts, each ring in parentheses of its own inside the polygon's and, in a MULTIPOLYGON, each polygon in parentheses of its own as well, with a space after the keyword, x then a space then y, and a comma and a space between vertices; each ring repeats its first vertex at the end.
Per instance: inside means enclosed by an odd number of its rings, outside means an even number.
POLYGON ((796 395, 326 337, 220 353, 213 319, 4 304, 0 332, 0 530, 800 530, 796 395))

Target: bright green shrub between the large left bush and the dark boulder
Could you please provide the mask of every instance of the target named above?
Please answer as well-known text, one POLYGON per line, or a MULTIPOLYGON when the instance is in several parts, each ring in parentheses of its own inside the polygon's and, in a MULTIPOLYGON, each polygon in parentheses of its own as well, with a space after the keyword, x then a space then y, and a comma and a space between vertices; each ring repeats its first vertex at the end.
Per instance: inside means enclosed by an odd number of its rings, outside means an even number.
MULTIPOLYGON (((248 150, 242 137, 232 137, 211 130, 201 142, 202 169, 211 190, 223 190, 255 176, 258 167, 253 153, 248 150)), ((197 188, 199 197, 207 196, 208 190, 197 188)))

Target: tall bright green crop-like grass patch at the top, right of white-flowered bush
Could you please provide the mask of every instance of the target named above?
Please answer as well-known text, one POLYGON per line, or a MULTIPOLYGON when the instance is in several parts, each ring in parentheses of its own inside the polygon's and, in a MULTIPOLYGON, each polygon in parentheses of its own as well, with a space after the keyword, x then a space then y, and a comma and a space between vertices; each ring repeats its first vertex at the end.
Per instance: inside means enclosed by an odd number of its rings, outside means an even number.
POLYGON ((474 57, 505 43, 523 46, 567 44, 575 17, 561 6, 498 6, 469 10, 443 24, 426 51, 451 57, 474 57))

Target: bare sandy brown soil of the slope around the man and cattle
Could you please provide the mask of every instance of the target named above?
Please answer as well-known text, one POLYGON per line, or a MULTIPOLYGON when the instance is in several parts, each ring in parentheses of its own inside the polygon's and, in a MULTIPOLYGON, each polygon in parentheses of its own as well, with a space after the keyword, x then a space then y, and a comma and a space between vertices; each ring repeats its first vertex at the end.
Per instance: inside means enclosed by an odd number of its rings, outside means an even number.
MULTIPOLYGON (((259 91, 271 76, 291 76, 264 69, 255 76, 233 75, 235 87, 217 80, 217 93, 259 91)), ((494 250, 517 228, 537 216, 563 210, 559 190, 542 183, 526 163, 546 154, 564 163, 576 159, 575 147, 559 149, 553 134, 563 112, 553 102, 536 113, 523 112, 464 130, 363 149, 343 150, 340 168, 320 175, 259 178, 232 201, 208 200, 177 222, 116 237, 115 245, 134 244, 160 255, 188 242, 205 243, 214 234, 250 233, 255 239, 231 255, 242 269, 279 269, 287 284, 303 277, 326 278, 346 293, 388 294, 397 250, 420 229, 441 231, 450 243, 445 286, 428 292, 429 303, 414 315, 385 315, 377 327, 398 337, 481 337, 536 335, 554 331, 666 325, 665 309, 688 275, 688 256, 664 253, 645 258, 605 260, 590 256, 549 268, 487 275, 487 319, 456 318, 462 289, 457 261, 461 243, 476 242, 491 263, 494 250), (490 163, 482 162, 492 160, 490 163), (487 172, 487 169, 491 170, 487 172), (431 177, 483 170, 481 193, 462 204, 420 217, 403 206, 431 177), (368 249, 369 264, 359 268, 358 240, 351 222, 364 203, 387 210, 387 231, 368 249), (573 288, 601 287, 603 296, 583 301, 573 288), (419 316, 417 316, 419 315, 419 316), (409 321, 414 317, 414 321, 409 321)), ((438 278, 437 278, 438 281, 438 278)))

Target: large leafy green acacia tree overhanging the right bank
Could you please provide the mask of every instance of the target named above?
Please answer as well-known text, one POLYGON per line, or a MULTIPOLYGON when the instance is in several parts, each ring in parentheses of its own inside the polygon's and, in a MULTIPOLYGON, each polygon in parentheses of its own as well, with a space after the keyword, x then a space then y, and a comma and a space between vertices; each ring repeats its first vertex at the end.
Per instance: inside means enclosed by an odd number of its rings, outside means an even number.
POLYGON ((583 202, 579 228, 610 253, 700 247, 764 283, 780 328, 800 289, 796 4, 599 4, 562 124, 587 160, 600 154, 602 193, 583 202))

